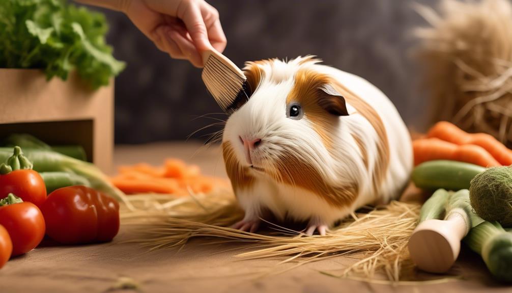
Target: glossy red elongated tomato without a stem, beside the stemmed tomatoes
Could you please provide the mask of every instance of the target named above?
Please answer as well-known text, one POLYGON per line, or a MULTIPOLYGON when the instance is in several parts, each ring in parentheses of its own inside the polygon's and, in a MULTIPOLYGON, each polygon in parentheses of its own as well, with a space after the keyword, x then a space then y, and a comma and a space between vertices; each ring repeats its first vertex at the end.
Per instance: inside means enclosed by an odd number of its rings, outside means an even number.
POLYGON ((90 187, 62 187, 41 211, 46 234, 63 244, 111 241, 119 232, 119 203, 90 187))

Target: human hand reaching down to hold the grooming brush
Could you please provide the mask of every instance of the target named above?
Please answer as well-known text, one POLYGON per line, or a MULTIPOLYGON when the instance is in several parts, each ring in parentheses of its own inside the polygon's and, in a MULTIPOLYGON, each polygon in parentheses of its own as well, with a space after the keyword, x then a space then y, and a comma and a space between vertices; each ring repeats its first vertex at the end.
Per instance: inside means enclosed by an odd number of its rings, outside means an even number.
POLYGON ((196 67, 203 67, 203 51, 226 47, 219 12, 204 0, 78 1, 124 12, 158 49, 196 67))

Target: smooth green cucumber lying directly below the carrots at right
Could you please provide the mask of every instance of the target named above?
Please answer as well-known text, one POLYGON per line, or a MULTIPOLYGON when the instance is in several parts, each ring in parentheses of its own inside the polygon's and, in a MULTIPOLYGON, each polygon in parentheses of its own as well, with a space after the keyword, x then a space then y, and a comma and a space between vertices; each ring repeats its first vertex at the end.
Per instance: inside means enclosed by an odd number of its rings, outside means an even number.
POLYGON ((421 163, 414 168, 412 180, 414 184, 427 190, 469 189, 470 182, 477 174, 485 171, 479 165, 449 160, 435 160, 421 163))

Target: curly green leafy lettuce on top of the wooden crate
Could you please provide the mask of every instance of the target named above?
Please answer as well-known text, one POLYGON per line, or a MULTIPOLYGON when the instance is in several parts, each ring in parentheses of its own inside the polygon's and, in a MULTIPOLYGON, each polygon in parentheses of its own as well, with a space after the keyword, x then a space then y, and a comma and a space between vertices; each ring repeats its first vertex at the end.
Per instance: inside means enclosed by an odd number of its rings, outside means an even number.
POLYGON ((0 67, 38 68, 48 79, 72 70, 96 89, 124 62, 105 44, 105 17, 64 0, 0 1, 0 67))

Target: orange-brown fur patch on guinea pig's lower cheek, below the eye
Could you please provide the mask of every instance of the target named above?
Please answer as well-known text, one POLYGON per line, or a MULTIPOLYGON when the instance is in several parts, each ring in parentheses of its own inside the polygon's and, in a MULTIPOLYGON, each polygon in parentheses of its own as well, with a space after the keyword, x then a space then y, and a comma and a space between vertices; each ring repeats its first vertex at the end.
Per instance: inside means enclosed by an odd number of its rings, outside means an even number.
POLYGON ((345 186, 328 185, 313 166, 294 156, 281 156, 278 165, 279 170, 276 170, 278 174, 274 174, 274 180, 302 187, 335 206, 349 206, 355 201, 359 193, 357 182, 345 186))

